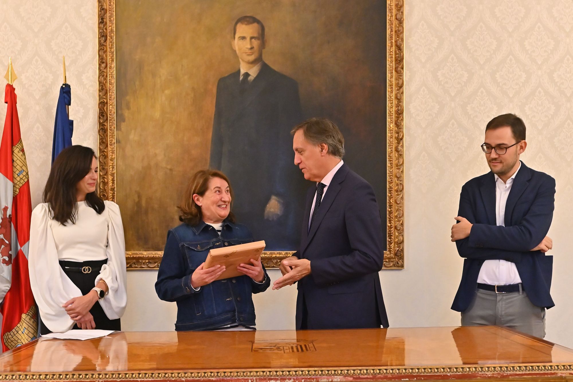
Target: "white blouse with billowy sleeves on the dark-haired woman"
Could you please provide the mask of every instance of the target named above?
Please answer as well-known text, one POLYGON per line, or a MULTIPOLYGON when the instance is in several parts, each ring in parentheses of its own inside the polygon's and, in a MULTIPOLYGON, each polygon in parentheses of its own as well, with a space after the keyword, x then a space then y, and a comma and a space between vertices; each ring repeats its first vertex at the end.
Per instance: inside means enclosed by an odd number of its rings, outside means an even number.
MULTIPOLYGON (((85 202, 78 202, 76 223, 60 224, 50 217, 48 203, 38 204, 30 222, 30 286, 42 322, 52 332, 65 332, 76 324, 62 305, 82 296, 80 289, 61 269, 59 260, 91 261, 108 259, 101 267, 95 285, 103 279, 109 293, 99 300, 106 316, 123 316, 127 304, 125 242, 117 204, 104 201, 97 214, 85 202)), ((94 286, 95 286, 94 285, 94 286)), ((96 322, 97 325, 97 322, 96 322)))

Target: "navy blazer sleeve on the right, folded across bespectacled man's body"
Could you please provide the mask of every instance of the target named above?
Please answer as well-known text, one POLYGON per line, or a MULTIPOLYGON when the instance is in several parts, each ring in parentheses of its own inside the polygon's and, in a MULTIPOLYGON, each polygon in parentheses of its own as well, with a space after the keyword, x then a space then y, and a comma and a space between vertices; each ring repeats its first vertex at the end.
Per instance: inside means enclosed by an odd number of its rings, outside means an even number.
POLYGON ((540 183, 531 208, 518 225, 475 224, 469 235, 469 246, 523 252, 535 248, 549 232, 554 203, 555 179, 548 176, 546 182, 540 183))

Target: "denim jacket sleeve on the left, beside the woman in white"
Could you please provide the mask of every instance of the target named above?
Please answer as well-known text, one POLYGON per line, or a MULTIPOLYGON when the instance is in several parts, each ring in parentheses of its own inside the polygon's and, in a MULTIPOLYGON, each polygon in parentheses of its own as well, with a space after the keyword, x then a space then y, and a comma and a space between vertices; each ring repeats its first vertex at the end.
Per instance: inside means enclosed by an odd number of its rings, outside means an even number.
POLYGON ((175 233, 169 231, 155 282, 155 292, 161 300, 179 301, 190 294, 201 293, 202 288, 197 291, 191 288, 191 274, 186 275, 186 269, 189 265, 185 254, 181 252, 175 233))

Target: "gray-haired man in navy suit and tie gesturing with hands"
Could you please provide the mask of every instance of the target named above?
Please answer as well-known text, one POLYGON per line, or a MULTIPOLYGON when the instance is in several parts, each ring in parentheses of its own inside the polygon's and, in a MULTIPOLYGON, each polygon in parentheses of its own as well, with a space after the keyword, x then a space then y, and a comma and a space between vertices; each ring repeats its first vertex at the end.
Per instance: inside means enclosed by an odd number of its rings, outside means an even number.
POLYGON ((387 328, 374 190, 344 164, 334 123, 313 118, 291 133, 295 164, 316 183, 307 193, 299 251, 282 261, 273 289, 297 282, 296 329, 387 328))

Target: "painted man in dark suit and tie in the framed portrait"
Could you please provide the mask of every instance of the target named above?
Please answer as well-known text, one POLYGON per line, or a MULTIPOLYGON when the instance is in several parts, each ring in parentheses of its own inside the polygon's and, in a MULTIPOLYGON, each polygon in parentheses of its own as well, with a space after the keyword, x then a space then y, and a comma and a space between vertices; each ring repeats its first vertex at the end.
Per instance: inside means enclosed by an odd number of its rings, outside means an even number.
POLYGON ((219 79, 210 167, 233 184, 233 212, 264 239, 268 250, 296 246, 296 170, 290 164, 292 127, 301 121, 299 86, 262 60, 265 26, 237 19, 232 46, 240 69, 219 79), (295 242, 293 242, 293 239, 295 242))

